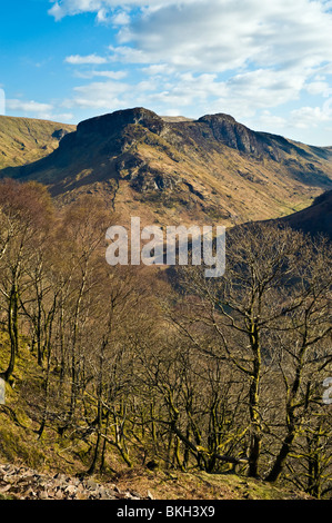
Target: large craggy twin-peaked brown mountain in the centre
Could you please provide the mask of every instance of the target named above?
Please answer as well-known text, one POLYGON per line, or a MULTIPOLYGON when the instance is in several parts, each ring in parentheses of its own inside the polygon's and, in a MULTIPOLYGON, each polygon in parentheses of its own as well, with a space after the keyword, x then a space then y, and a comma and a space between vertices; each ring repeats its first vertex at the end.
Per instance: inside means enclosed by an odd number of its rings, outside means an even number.
POLYGON ((59 205, 98 194, 124 217, 160 224, 279 218, 332 187, 332 148, 253 131, 224 114, 191 120, 133 108, 71 132, 60 127, 58 148, 0 177, 47 184, 59 205))

